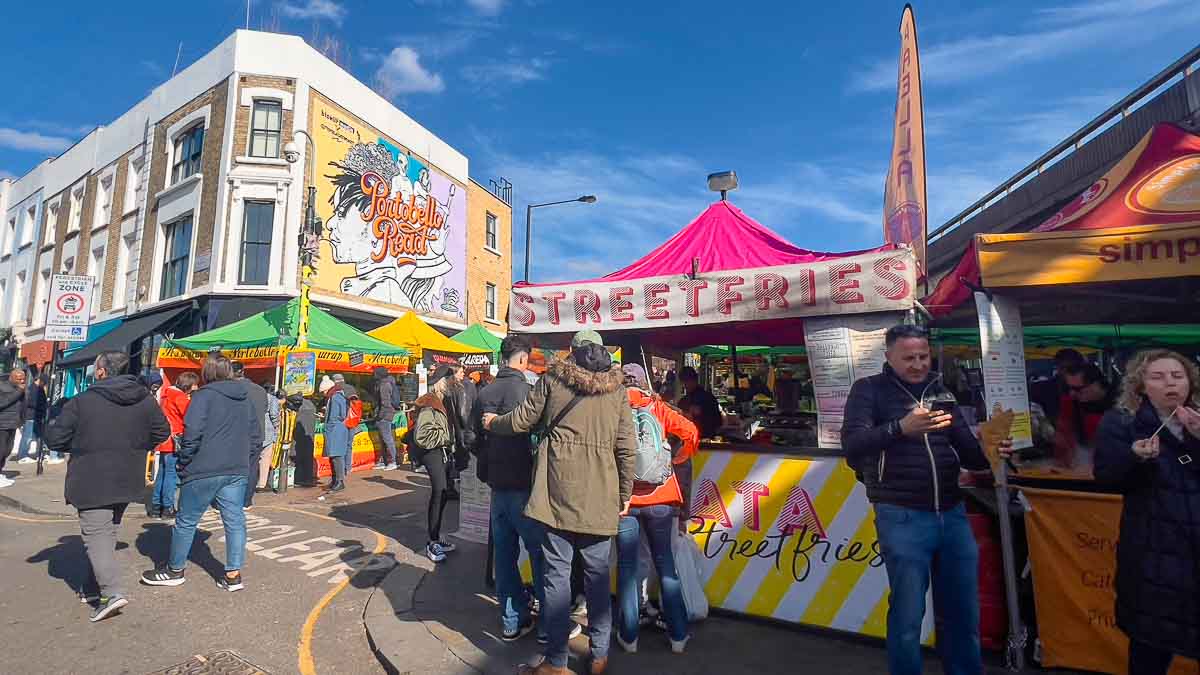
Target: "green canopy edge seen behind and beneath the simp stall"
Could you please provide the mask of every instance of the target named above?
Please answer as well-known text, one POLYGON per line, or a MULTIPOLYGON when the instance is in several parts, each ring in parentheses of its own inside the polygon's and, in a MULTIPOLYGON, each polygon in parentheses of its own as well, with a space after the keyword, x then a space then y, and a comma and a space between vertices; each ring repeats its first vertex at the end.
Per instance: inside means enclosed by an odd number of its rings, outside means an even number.
MULTIPOLYGON (((943 345, 979 345, 976 328, 934 328, 943 345)), ((1025 346, 1135 347, 1140 345, 1200 345, 1200 323, 1130 323, 1080 325, 1026 325, 1025 346)))

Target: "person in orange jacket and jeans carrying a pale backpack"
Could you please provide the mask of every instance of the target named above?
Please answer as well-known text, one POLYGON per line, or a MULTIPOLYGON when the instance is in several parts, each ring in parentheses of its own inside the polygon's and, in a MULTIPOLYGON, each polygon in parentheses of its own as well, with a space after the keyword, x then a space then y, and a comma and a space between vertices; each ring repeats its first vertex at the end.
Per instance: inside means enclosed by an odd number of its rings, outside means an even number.
POLYGON ((671 651, 683 653, 688 645, 688 610, 676 571, 671 540, 683 506, 683 492, 672 465, 696 452, 700 431, 674 407, 646 389, 646 370, 626 364, 626 394, 637 432, 634 496, 629 513, 622 515, 617 531, 617 643, 629 653, 637 651, 641 602, 638 597, 638 551, 641 533, 650 544, 662 590, 662 614, 667 622, 671 651), (678 448, 672 453, 671 448, 678 448))

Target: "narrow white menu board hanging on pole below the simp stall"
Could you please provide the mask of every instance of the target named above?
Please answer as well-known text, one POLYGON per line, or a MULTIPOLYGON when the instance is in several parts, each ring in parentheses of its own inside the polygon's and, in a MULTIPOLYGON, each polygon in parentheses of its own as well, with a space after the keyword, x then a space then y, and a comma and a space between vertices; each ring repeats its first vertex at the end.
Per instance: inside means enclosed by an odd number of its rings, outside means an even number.
POLYGON ((1016 303, 1002 295, 976 293, 979 345, 983 352, 983 393, 988 417, 1013 411, 1013 447, 1033 447, 1030 389, 1025 380, 1025 330, 1016 303))

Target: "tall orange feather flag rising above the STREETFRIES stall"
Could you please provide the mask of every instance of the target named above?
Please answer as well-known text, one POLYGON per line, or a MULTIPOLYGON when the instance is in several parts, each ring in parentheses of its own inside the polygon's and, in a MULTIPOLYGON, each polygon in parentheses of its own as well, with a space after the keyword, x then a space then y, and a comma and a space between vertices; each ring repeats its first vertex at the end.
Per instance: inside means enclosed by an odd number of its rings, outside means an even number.
POLYGON ((892 160, 883 189, 883 240, 917 253, 917 276, 925 276, 925 113, 920 95, 917 18, 912 5, 900 16, 900 64, 892 160))

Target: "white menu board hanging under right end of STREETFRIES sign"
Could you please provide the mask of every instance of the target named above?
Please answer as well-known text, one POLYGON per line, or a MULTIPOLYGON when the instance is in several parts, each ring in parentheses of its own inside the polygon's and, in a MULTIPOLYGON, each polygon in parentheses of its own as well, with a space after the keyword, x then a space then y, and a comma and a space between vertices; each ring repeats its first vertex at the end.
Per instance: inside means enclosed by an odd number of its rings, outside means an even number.
POLYGON ((884 335, 901 312, 804 319, 804 347, 817 408, 817 446, 841 447, 841 422, 856 380, 883 370, 884 335))

